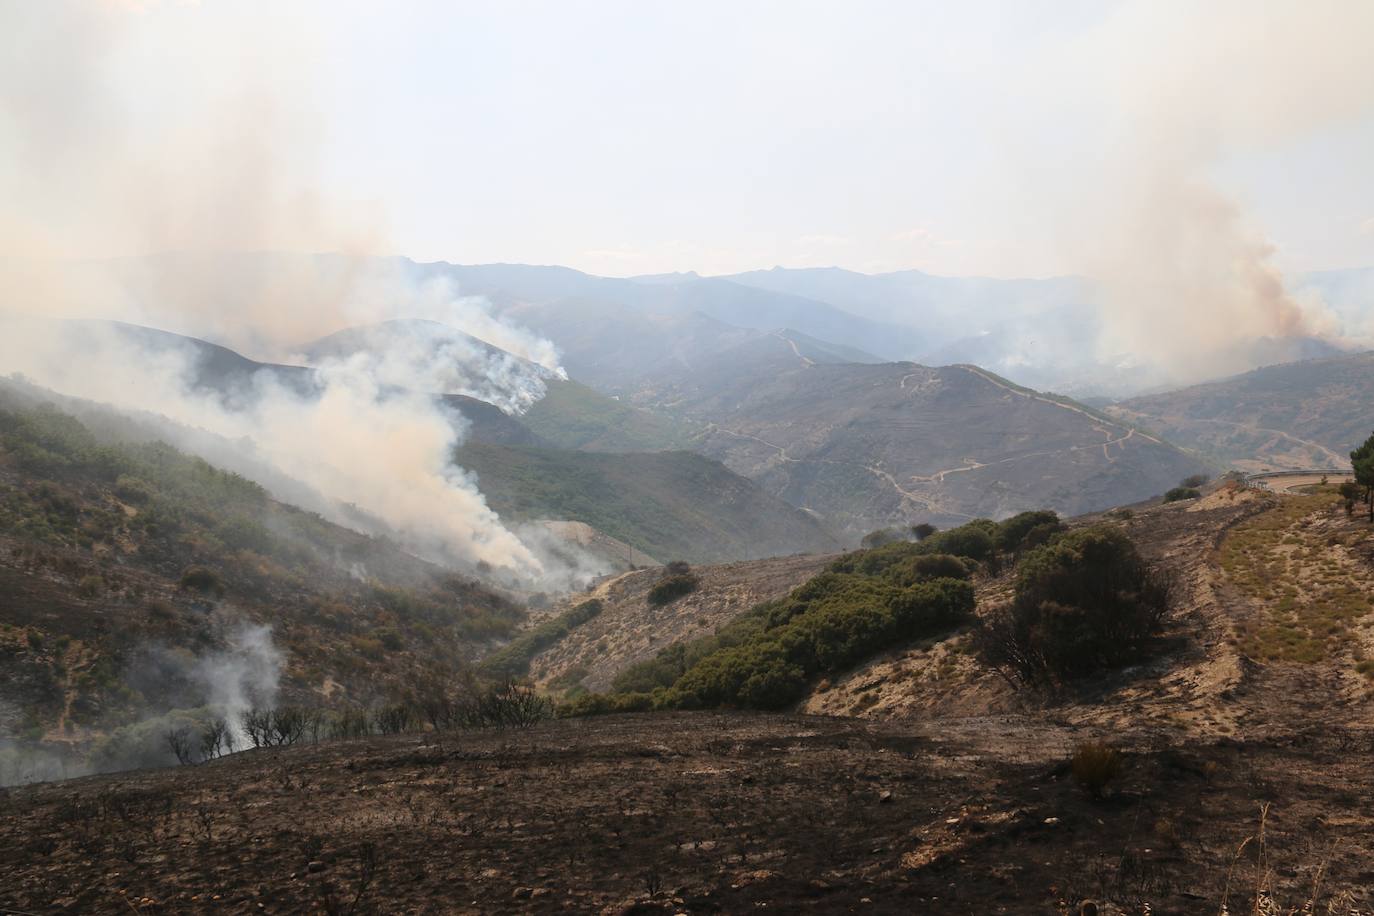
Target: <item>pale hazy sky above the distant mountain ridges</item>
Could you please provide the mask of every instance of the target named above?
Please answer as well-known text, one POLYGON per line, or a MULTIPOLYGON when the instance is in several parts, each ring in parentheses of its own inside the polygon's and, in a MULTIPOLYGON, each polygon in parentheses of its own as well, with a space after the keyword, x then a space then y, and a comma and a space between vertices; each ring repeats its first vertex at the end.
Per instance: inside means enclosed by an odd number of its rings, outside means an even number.
POLYGON ((1165 174, 1371 265, 1371 11, 0 0, 0 244, 1044 276, 1165 174))

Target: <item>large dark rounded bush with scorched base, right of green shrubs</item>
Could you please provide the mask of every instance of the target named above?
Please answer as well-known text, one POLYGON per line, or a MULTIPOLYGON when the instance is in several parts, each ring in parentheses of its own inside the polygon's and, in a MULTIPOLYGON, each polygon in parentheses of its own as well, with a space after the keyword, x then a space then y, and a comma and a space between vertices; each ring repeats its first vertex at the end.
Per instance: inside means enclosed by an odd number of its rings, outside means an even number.
POLYGON ((1139 658, 1169 607, 1169 581, 1120 529, 1072 531, 1021 560, 1010 607, 988 615, 977 647, 1022 683, 1055 683, 1139 658))

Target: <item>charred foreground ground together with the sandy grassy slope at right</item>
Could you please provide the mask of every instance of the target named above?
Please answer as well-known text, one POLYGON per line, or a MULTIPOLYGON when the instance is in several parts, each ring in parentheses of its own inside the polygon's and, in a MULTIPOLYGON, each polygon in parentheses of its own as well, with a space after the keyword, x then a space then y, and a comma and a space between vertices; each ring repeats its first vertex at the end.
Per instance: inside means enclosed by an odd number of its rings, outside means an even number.
POLYGON ((1370 912, 1374 618, 1345 588, 1374 582, 1369 525, 1249 492, 1123 523, 1179 606, 1151 662, 1073 694, 912 669, 863 717, 552 721, 8 790, 0 912, 1370 912), (1102 799, 1069 768, 1092 739, 1124 754, 1102 799))

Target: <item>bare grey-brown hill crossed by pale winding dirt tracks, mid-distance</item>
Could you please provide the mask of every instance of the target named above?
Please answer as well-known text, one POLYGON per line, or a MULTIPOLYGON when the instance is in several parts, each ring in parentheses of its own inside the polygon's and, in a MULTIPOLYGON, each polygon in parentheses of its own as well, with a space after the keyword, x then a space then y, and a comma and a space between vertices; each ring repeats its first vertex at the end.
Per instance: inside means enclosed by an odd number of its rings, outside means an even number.
POLYGON ((809 364, 683 379, 658 394, 708 423, 697 446, 851 537, 1168 490, 1201 461, 976 367, 809 364))

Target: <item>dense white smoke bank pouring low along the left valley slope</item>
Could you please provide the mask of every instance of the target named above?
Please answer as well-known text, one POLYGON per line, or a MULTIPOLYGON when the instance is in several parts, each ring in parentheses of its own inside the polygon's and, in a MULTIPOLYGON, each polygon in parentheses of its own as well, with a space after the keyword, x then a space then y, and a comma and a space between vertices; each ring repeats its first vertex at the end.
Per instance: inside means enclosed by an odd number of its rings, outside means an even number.
POLYGON ((305 390, 258 372, 225 405, 194 382, 202 354, 174 338, 146 341, 88 323, 8 325, 15 327, 23 330, 0 335, 0 365, 10 371, 63 394, 153 411, 242 442, 257 461, 338 507, 335 520, 348 520, 344 505, 357 505, 433 559, 488 563, 517 575, 540 570, 452 463, 460 434, 452 416, 418 387, 383 385, 365 356, 326 361, 315 375, 319 387, 305 390))

